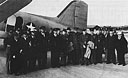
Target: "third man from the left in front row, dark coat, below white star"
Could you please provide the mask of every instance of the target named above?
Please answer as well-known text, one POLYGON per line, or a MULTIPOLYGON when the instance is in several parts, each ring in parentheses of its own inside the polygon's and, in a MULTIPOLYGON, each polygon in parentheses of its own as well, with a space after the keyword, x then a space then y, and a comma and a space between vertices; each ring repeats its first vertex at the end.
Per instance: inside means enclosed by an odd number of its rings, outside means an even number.
POLYGON ((36 37, 36 32, 35 31, 31 31, 31 35, 30 35, 30 49, 29 49, 29 64, 28 64, 28 68, 29 71, 35 71, 37 70, 37 60, 38 60, 38 56, 39 56, 39 52, 38 52, 38 40, 36 37))

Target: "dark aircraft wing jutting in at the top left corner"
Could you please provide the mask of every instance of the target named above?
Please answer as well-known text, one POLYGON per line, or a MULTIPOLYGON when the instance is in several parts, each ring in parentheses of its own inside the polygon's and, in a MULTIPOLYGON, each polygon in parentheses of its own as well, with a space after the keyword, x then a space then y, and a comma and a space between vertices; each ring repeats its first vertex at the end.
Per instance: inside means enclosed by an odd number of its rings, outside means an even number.
POLYGON ((32 0, 1 0, 0 1, 0 22, 6 20, 9 16, 13 15, 32 0))

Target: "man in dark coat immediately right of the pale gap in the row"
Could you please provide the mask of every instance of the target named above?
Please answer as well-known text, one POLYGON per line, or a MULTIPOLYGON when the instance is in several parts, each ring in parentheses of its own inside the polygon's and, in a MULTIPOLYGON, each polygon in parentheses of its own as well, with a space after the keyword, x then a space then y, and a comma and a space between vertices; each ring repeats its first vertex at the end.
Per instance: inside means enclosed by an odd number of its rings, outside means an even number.
POLYGON ((55 28, 53 29, 53 32, 51 33, 50 36, 50 44, 51 44, 51 65, 52 67, 59 67, 59 59, 60 59, 60 52, 59 52, 59 32, 60 29, 55 28))

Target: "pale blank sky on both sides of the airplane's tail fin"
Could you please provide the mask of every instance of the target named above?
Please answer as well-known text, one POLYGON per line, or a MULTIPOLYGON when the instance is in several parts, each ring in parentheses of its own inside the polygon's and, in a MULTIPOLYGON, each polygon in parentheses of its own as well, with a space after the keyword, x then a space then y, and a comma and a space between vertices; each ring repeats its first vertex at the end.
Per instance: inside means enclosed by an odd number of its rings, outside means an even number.
MULTIPOLYGON (((72 0, 33 0, 21 11, 56 17, 72 0)), ((88 4, 88 25, 128 25, 128 0, 82 0, 88 4)))

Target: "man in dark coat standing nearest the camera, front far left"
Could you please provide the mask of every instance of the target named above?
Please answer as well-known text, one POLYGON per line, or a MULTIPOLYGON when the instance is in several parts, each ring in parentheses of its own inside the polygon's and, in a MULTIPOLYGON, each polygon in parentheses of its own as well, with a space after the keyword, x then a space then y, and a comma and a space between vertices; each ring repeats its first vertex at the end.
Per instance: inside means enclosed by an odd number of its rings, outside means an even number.
POLYGON ((19 35, 14 33, 13 36, 9 38, 7 44, 10 45, 10 50, 8 53, 9 56, 7 57, 8 73, 19 75, 21 69, 19 35))

